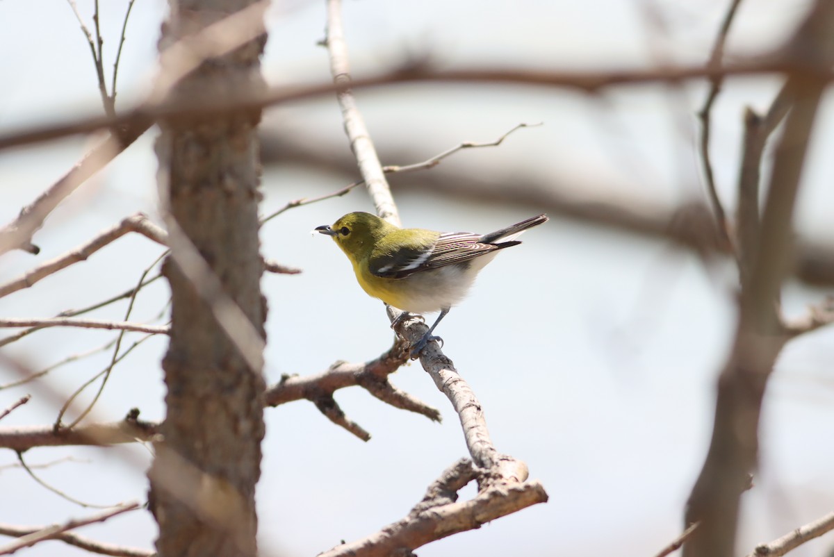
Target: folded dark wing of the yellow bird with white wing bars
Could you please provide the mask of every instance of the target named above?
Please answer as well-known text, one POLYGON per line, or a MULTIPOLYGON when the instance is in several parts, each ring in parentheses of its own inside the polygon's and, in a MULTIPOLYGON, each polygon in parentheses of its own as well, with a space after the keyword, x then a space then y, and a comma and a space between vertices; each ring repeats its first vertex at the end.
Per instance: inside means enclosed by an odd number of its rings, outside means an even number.
POLYGON ((369 261, 370 272, 378 277, 404 278, 418 271, 464 263, 520 243, 480 243, 480 238, 480 234, 454 232, 440 234, 434 243, 400 243, 393 252, 374 253, 369 261))

